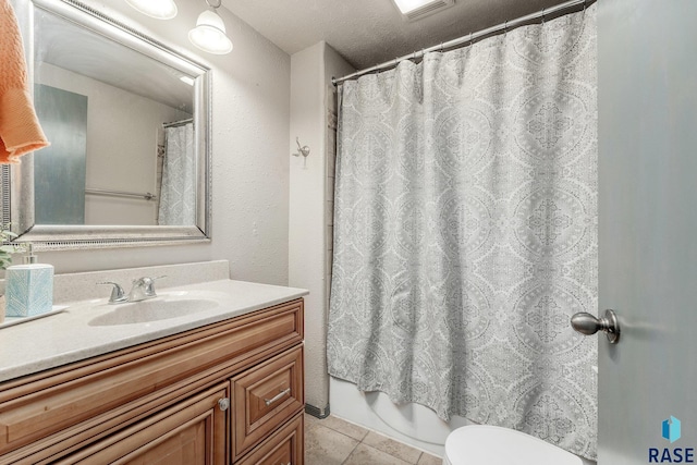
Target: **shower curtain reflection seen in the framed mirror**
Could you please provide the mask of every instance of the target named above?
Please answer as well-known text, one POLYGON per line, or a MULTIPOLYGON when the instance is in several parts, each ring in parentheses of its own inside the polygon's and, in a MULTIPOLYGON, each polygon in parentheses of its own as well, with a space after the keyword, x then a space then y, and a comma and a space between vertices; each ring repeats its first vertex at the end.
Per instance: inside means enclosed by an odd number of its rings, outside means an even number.
POLYGON ((196 224, 196 159, 193 123, 164 129, 164 161, 158 224, 196 224))

